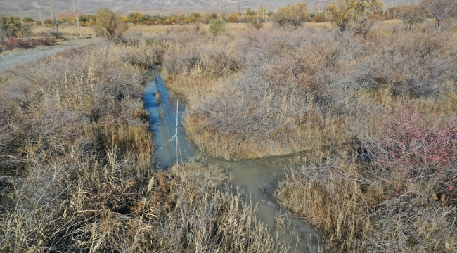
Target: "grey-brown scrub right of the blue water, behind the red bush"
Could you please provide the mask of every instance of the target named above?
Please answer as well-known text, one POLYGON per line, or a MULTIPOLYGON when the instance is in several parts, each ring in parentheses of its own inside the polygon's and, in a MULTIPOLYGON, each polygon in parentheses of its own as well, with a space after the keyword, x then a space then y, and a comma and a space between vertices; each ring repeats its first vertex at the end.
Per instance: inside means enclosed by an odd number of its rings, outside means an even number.
POLYGON ((348 140, 356 114, 388 113, 408 96, 440 104, 452 97, 453 32, 424 25, 406 34, 387 21, 359 37, 317 25, 217 37, 189 26, 151 40, 169 86, 189 99, 186 130, 204 153, 323 152, 348 140))

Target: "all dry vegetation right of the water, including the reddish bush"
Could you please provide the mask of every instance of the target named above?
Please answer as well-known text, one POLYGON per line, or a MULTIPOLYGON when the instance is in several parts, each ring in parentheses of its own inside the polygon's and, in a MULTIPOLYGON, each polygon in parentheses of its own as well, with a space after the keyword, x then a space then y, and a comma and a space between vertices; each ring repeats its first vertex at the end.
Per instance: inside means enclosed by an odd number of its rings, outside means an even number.
POLYGON ((228 160, 307 150, 276 198, 335 252, 455 252, 457 38, 431 20, 369 32, 191 26, 150 40, 185 127, 228 160))

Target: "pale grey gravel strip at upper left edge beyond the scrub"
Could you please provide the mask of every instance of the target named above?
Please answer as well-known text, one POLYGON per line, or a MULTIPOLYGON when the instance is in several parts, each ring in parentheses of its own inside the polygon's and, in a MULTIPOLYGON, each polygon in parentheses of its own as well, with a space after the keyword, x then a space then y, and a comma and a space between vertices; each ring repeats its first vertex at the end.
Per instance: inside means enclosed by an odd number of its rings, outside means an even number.
POLYGON ((75 39, 71 41, 62 41, 55 46, 39 46, 37 48, 6 51, 0 54, 0 72, 11 70, 17 65, 39 62, 39 60, 45 56, 53 56, 56 53, 63 51, 65 48, 86 46, 95 43, 96 41, 98 41, 97 38, 75 39))

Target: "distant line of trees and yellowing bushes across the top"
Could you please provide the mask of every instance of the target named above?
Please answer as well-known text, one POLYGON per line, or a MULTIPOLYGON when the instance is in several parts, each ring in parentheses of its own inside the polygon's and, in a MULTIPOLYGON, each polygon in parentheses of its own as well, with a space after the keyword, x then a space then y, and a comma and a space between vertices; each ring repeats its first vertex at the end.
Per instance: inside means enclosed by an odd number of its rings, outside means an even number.
MULTIPOLYGON (((50 1, 52 7, 52 2, 50 1)), ((178 25, 189 23, 209 24, 214 19, 223 22, 245 22, 252 23, 255 27, 262 27, 264 22, 275 22, 281 26, 297 27, 304 22, 333 22, 341 32, 367 32, 373 22, 377 19, 399 19, 404 23, 406 31, 411 30, 414 24, 424 22, 427 18, 434 20, 438 29, 446 27, 457 15, 457 0, 423 0, 419 4, 404 4, 394 8, 385 9, 380 0, 337 0, 326 5, 321 13, 309 11, 304 2, 295 5, 289 4, 278 8, 276 12, 267 11, 266 7, 260 6, 256 11, 246 8, 241 11, 238 5, 237 13, 189 13, 188 15, 145 15, 141 13, 130 13, 122 16, 109 9, 100 9, 96 15, 80 15, 78 8, 73 1, 72 11, 74 18, 62 18, 58 20, 51 8, 51 17, 44 19, 41 8, 38 9, 41 20, 32 18, 0 16, 0 42, 5 39, 21 38, 30 35, 30 24, 36 22, 43 26, 43 32, 50 32, 54 37, 60 38, 58 26, 63 22, 77 22, 79 35, 82 37, 81 26, 94 25, 96 32, 110 39, 117 37, 111 30, 127 30, 122 23, 134 23, 143 25, 178 25), (97 20, 102 18, 102 20, 97 20), (110 25, 111 27, 107 27, 110 25), (103 27, 103 29, 101 29, 103 27), (113 28, 115 27, 115 28, 113 28), (103 30, 103 32, 101 32, 103 30)), ((219 22, 219 27, 221 27, 219 22)), ((219 32, 221 29, 217 29, 219 32)), ((213 32, 217 34, 217 32, 213 32)), ((123 33, 123 32, 122 32, 123 33)))

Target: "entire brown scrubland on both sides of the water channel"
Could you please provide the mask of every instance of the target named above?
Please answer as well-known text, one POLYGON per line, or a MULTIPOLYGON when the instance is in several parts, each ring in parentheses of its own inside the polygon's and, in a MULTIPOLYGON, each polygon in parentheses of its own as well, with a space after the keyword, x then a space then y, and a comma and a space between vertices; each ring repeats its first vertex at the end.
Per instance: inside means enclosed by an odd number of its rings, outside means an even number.
POLYGON ((366 28, 136 26, 2 73, 0 251, 285 250, 224 171, 151 169, 152 48, 204 155, 300 153, 273 195, 329 252, 456 252, 457 30, 366 28))

